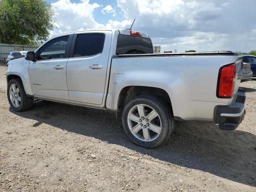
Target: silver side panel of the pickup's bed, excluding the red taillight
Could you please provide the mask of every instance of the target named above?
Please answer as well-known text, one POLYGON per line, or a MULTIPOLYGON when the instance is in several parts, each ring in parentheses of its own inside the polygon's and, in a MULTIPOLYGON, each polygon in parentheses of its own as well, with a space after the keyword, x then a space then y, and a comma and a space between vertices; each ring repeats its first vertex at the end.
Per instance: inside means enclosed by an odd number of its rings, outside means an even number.
MULTIPOLYGON (((219 70, 232 63, 236 63, 236 93, 242 70, 242 55, 236 52, 120 54, 112 60, 108 93, 115 97, 126 86, 161 88, 170 96, 174 116, 214 121, 216 106, 233 100, 216 96, 219 70)), ((116 110, 114 106, 108 108, 116 110)))

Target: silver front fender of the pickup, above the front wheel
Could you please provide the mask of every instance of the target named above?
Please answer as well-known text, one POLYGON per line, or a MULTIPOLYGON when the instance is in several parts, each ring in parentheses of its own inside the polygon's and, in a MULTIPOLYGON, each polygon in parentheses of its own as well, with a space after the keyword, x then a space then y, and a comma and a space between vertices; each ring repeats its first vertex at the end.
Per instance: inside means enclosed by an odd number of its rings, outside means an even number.
POLYGON ((8 76, 17 75, 21 78, 24 90, 28 95, 34 95, 32 92, 30 78, 29 78, 29 67, 30 61, 25 58, 19 58, 15 60, 11 60, 8 62, 8 70, 6 72, 6 78, 8 80, 8 76))

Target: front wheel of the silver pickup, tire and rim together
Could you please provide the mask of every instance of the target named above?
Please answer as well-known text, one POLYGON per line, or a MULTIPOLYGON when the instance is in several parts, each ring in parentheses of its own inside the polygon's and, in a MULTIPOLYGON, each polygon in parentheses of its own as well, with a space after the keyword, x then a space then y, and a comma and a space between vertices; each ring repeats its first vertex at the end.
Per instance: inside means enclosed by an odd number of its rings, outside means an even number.
POLYGON ((14 111, 25 111, 32 108, 34 99, 26 96, 22 81, 18 78, 8 82, 7 96, 10 107, 14 111))

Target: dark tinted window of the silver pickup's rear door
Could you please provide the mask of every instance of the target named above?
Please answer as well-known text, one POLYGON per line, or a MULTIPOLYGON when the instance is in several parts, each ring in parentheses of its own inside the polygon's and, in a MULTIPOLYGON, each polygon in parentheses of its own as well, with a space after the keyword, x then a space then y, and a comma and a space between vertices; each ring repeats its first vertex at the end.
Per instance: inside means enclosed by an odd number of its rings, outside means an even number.
POLYGON ((104 34, 79 34, 76 38, 74 57, 93 56, 102 53, 104 34))

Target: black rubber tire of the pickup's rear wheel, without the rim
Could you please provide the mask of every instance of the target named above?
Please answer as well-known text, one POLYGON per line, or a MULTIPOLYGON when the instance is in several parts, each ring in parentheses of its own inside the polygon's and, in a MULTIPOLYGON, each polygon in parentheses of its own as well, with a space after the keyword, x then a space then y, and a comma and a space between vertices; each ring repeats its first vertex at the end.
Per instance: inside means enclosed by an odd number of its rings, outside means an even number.
POLYGON ((126 106, 124 107, 124 110, 122 111, 122 125, 124 128, 124 132, 134 144, 144 148, 155 148, 166 142, 170 138, 171 134, 174 132, 174 117, 170 110, 170 106, 162 98, 150 95, 139 96, 128 102, 128 104, 126 104, 126 106), (159 136, 151 142, 139 140, 132 134, 129 129, 127 121, 128 113, 134 106, 138 104, 145 104, 152 107, 154 110, 156 110, 161 119, 162 130, 159 136))

